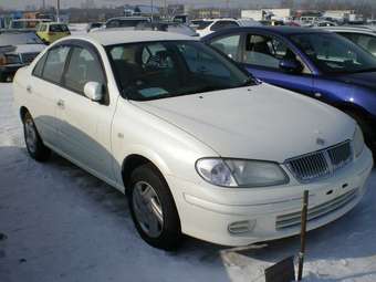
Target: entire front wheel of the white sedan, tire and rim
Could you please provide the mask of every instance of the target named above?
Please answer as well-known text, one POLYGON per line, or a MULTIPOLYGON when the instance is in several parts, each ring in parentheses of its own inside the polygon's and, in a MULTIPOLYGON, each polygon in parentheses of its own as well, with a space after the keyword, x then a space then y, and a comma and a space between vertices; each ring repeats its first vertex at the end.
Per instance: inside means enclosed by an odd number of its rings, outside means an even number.
POLYGON ((135 168, 128 195, 139 236, 150 246, 174 251, 181 243, 180 219, 166 180, 152 164, 135 168))

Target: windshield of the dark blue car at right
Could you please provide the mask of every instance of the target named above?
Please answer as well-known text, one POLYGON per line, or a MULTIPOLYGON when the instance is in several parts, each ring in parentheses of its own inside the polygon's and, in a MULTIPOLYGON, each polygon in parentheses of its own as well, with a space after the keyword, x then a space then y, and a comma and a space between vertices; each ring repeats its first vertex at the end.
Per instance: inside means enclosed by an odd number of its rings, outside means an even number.
POLYGON ((324 73, 376 71, 376 59, 334 33, 294 34, 291 39, 324 73))

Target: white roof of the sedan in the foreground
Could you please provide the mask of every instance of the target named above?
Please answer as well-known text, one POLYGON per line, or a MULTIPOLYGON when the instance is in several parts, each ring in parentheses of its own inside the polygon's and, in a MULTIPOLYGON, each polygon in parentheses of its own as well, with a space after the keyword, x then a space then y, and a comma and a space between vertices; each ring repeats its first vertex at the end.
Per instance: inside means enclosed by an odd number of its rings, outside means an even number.
MULTIPOLYGON (((70 36, 67 39, 73 39, 73 36, 70 36)), ((138 31, 106 30, 106 31, 98 31, 98 32, 90 32, 87 35, 74 36, 74 39, 88 39, 104 46, 125 44, 125 43, 153 42, 153 41, 175 41, 175 40, 198 41, 195 38, 178 34, 178 33, 163 32, 163 31, 144 31, 144 30, 138 30, 138 31)))

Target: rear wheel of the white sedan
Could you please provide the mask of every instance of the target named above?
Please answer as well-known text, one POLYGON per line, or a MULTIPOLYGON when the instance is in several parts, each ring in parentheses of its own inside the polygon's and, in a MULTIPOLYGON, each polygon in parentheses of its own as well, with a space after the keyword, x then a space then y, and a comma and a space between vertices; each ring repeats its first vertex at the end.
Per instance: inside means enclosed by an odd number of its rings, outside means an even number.
POLYGON ((34 121, 29 113, 23 117, 24 142, 29 155, 38 161, 46 161, 51 155, 51 149, 44 146, 40 137, 34 121))

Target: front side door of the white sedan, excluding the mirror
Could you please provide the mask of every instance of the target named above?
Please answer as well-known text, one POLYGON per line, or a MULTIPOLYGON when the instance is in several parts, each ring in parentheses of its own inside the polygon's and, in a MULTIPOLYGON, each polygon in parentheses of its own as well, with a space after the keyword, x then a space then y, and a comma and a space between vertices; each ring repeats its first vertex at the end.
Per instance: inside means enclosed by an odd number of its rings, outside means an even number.
POLYGON ((109 101, 106 74, 94 46, 88 43, 72 45, 63 86, 58 108, 62 153, 88 171, 112 181, 111 128, 115 101, 109 101), (84 95, 87 82, 103 85, 106 93, 103 101, 93 102, 84 95))

